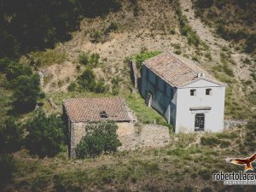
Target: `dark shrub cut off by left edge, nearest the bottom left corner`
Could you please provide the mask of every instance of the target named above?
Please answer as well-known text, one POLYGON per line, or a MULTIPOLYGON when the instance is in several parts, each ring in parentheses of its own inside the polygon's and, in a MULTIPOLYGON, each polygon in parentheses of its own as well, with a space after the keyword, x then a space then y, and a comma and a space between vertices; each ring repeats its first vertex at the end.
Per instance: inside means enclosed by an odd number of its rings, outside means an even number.
POLYGON ((15 159, 12 154, 0 154, 0 189, 13 178, 15 159))

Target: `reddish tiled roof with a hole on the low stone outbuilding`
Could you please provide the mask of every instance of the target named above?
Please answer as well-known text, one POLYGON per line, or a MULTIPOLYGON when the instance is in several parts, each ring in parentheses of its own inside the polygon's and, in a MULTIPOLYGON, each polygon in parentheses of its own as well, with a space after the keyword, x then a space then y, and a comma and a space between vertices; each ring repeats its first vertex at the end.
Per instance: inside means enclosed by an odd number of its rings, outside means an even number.
POLYGON ((63 105, 73 122, 131 121, 125 102, 120 97, 70 98, 63 105), (102 117, 101 113, 107 117, 102 117))

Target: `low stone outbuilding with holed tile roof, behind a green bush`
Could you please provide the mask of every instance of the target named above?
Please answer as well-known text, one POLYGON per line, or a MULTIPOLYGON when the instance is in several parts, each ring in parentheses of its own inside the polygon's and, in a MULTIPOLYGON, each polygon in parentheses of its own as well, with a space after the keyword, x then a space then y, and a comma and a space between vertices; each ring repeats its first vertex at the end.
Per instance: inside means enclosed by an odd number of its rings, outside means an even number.
POLYGON ((85 125, 113 120, 118 131, 133 130, 131 110, 120 97, 70 98, 63 101, 63 113, 67 119, 69 156, 75 157, 75 148, 85 135, 85 125))

